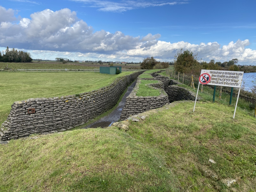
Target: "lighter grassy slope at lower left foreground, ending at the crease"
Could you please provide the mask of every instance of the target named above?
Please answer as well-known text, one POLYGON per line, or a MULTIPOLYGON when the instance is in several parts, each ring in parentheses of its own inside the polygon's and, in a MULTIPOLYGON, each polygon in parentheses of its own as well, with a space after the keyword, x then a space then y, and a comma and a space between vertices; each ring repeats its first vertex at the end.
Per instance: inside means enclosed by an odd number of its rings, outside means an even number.
POLYGON ((4 164, 0 168, 0 191, 174 188, 170 170, 162 168, 162 156, 116 129, 80 129, 35 140, 12 140, 1 145, 0 152, 6 155, 0 159, 4 164), (4 163, 7 156, 8 163, 4 163))

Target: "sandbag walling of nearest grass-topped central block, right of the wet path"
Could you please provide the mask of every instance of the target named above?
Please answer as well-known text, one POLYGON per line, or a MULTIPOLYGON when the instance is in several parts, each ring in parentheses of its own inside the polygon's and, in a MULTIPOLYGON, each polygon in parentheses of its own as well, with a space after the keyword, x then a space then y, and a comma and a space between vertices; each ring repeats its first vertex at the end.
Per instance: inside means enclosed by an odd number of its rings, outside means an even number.
MULTIPOLYGON (((155 80, 155 79, 149 79, 155 80)), ((158 89, 160 91, 159 96, 153 97, 139 97, 136 96, 136 92, 139 89, 140 79, 137 80, 135 87, 128 97, 126 97, 125 105, 120 116, 120 120, 127 119, 131 115, 136 115, 143 113, 150 109, 155 109, 163 107, 165 104, 168 104, 168 95, 164 92, 164 84, 162 82, 156 84, 148 84, 151 88, 158 89)))

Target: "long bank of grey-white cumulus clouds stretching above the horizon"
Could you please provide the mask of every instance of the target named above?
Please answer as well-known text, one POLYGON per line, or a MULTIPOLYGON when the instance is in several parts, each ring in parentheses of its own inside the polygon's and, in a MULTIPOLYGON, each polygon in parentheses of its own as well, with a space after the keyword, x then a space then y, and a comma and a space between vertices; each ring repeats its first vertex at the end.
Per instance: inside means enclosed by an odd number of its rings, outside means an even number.
POLYGON ((4 19, 0 17, 0 47, 32 50, 30 52, 34 58, 54 59, 63 55, 76 60, 93 60, 94 57, 101 60, 140 61, 154 56, 159 60, 173 60, 177 51, 183 48, 197 52, 202 60, 228 61, 237 58, 242 62, 256 62, 256 50, 246 48, 250 44, 248 39, 238 39, 227 45, 217 42, 170 43, 158 40, 160 34, 133 37, 121 31, 94 31, 69 9, 35 12, 30 19, 21 18, 19 24, 12 22, 16 20, 13 10, 1 6, 0 10, 10 16, 4 19))

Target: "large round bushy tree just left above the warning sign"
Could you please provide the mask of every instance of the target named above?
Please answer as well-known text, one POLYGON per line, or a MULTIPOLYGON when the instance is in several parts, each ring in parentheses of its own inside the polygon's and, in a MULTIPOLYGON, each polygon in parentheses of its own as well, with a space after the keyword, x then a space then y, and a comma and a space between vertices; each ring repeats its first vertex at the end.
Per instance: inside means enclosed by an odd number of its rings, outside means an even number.
POLYGON ((180 73, 194 73, 196 75, 200 71, 197 54, 192 51, 181 49, 174 56, 174 69, 180 73))

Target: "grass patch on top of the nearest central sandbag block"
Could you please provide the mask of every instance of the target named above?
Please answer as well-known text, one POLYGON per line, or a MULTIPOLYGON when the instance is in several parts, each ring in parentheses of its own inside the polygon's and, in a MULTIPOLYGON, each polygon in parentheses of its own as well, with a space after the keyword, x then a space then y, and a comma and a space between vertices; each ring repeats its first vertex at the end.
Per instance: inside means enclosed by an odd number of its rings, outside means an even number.
POLYGON ((140 80, 139 89, 136 92, 136 96, 159 96, 159 90, 152 89, 151 87, 147 86, 146 84, 153 84, 158 83, 157 80, 140 80))

